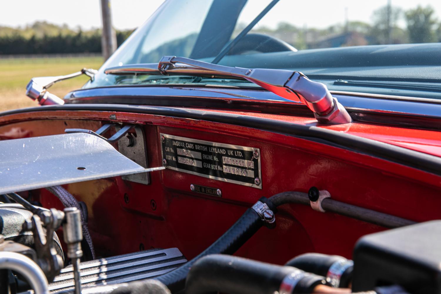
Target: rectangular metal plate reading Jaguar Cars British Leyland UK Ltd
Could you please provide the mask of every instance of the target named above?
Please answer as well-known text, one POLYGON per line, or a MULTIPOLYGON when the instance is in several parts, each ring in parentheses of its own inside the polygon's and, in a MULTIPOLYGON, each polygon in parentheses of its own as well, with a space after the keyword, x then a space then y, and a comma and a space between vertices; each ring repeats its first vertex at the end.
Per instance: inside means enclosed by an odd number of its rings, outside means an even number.
POLYGON ((260 150, 160 134, 166 168, 262 189, 260 150))

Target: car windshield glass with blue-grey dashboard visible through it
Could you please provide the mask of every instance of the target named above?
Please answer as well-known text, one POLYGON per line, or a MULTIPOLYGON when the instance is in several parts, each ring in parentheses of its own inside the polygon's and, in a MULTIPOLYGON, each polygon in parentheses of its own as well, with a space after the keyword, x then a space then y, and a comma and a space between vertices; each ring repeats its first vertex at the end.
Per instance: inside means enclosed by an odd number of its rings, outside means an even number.
POLYGON ((425 86, 430 83, 430 91, 435 87, 439 93, 439 1, 400 1, 397 6, 377 0, 300 2, 166 0, 84 88, 162 84, 258 87, 219 78, 104 74, 109 67, 182 56, 232 67, 302 71, 331 90, 422 97, 431 95, 425 86))

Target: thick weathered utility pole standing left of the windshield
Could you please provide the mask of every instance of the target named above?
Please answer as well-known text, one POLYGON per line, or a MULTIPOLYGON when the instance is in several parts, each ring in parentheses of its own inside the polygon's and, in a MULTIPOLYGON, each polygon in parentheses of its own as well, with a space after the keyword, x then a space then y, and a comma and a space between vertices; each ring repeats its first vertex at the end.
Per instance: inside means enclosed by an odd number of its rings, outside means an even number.
POLYGON ((110 0, 101 0, 101 16, 103 19, 101 51, 103 53, 104 61, 106 61, 116 50, 116 32, 112 27, 110 0))

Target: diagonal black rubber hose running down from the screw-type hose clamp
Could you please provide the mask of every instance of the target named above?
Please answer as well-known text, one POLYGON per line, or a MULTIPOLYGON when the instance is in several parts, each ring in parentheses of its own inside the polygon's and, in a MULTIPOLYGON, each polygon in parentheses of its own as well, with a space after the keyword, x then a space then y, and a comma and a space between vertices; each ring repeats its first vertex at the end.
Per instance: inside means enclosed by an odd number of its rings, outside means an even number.
MULTIPOLYGON (((261 217, 253 209, 247 211, 232 225, 216 242, 205 249, 191 261, 181 265, 164 275, 154 279, 160 281, 170 289, 172 293, 183 290, 188 271, 199 258, 214 253, 233 254, 263 225, 261 217)), ((189 292, 190 293, 190 292, 189 292)))

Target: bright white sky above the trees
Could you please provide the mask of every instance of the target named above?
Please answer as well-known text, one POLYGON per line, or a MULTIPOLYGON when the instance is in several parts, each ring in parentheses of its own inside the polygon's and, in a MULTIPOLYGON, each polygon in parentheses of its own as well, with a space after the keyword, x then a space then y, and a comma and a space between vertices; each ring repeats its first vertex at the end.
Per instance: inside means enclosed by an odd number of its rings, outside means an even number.
MULTIPOLYGON (((391 1, 392 6, 404 10, 414 8, 418 4, 422 6, 430 4, 435 8, 438 21, 441 21, 440 0, 391 1)), ((0 1, 0 26, 25 26, 37 20, 44 20, 58 25, 66 23, 70 27, 81 26, 83 30, 97 28, 101 26, 100 2, 100 0, 3 0, 0 1)), ((113 26, 118 30, 134 29, 140 26, 162 2, 164 0, 111 0, 113 26)), ((245 10, 247 13, 241 15, 240 19, 249 22, 267 3, 269 0, 248 0, 245 10)), ((386 3, 387 0, 280 0, 262 21, 265 20, 265 26, 269 27, 275 27, 277 23, 285 21, 297 26, 325 28, 336 23, 344 23, 347 9, 350 21, 371 22, 372 12, 386 3)))

